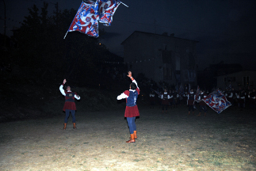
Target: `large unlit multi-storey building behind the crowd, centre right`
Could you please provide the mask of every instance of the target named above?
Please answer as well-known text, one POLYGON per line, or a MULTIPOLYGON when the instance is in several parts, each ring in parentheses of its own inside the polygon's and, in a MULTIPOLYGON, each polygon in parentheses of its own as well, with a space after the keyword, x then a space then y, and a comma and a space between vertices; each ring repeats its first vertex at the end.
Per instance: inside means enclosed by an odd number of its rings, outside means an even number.
POLYGON ((144 74, 155 82, 197 86, 197 41, 135 31, 121 45, 124 63, 134 74, 144 74))

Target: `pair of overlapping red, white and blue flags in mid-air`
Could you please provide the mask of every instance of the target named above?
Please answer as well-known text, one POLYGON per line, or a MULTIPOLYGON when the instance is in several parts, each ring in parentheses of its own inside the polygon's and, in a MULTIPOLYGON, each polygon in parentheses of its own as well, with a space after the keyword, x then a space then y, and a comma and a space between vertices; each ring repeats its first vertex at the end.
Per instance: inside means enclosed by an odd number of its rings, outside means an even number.
MULTIPOLYGON (((113 14, 120 5, 119 0, 87 0, 82 2, 67 32, 78 31, 88 36, 98 37, 98 22, 110 26, 113 21, 113 14)), ((126 6, 124 4, 124 6, 126 6)), ((64 39, 66 35, 64 36, 64 39)))

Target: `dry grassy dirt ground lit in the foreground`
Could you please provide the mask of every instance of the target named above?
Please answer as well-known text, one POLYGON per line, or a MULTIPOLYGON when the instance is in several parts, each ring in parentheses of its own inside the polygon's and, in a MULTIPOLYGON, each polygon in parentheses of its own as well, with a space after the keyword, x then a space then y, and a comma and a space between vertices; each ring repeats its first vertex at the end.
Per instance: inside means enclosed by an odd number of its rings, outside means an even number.
POLYGON ((138 139, 126 143, 125 104, 118 105, 86 112, 78 104, 75 130, 71 117, 63 130, 64 113, 1 123, 1 170, 256 170, 252 109, 208 108, 204 117, 188 116, 185 106, 162 114, 138 105, 138 139))

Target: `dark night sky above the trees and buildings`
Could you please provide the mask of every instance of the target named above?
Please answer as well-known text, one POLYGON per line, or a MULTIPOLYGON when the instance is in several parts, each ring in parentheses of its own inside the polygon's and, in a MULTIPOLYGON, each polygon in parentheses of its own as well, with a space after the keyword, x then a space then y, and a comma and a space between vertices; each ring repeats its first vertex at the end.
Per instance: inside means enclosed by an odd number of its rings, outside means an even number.
MULTIPOLYGON (((42 0, 5 0, 7 35, 10 29, 19 27, 28 15, 28 8, 42 0)), ((49 13, 59 2, 59 9, 78 9, 81 0, 48 0, 49 13)), ((153 32, 197 40, 197 63, 199 69, 209 63, 241 63, 244 70, 256 70, 256 1, 254 0, 140 0, 122 1, 113 16, 113 23, 105 28, 107 34, 100 35, 101 43, 109 51, 123 55, 120 45, 134 31, 153 32)), ((0 25, 3 26, 4 8, 1 1, 0 25)), ((1 27, 3 33, 3 27, 1 27)), ((82 34, 82 33, 81 33, 82 34)), ((64 36, 64 35, 63 35, 64 36)), ((68 36, 68 34, 67 34, 68 36)))

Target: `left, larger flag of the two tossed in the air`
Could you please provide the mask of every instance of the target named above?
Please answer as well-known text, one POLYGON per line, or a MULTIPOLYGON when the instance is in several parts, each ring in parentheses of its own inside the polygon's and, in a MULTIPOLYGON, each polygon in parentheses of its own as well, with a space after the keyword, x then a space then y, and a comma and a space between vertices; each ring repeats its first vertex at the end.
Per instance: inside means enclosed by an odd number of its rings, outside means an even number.
POLYGON ((89 36, 98 37, 98 0, 82 2, 71 23, 68 32, 78 31, 89 36))

